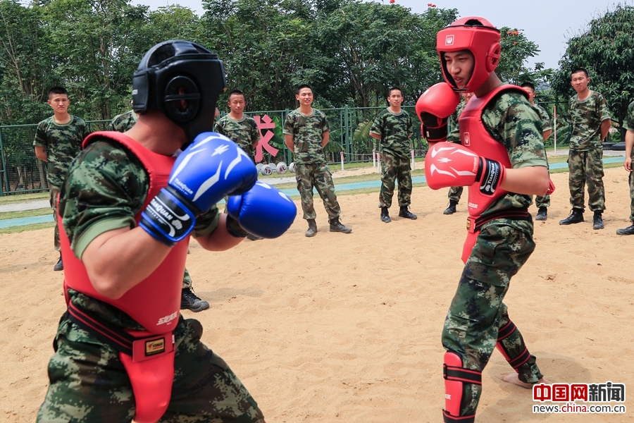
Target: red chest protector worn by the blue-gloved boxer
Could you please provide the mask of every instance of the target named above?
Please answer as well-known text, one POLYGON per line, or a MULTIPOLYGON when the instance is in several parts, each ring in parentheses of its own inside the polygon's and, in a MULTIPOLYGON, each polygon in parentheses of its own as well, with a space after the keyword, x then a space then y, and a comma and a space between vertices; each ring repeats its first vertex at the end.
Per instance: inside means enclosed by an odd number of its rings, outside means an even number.
MULTIPOLYGON (((98 132, 86 137, 83 147, 86 147, 96 138, 106 137, 125 146, 141 161, 149 175, 149 191, 141 207, 141 211, 147 207, 150 200, 167 185, 168 177, 175 157, 156 154, 143 147, 132 138, 117 132, 98 132)), ((135 216, 139 223, 141 212, 135 216)), ((180 295, 182 275, 185 271, 185 259, 187 259, 187 246, 189 237, 177 243, 166 259, 154 270, 154 272, 134 288, 128 290, 121 298, 112 300, 106 298, 94 289, 84 264, 75 257, 70 250, 70 243, 63 230, 63 219, 58 219, 60 226, 61 251, 64 261, 65 285, 89 295, 92 298, 107 302, 117 307, 132 319, 135 319, 150 333, 166 333, 173 331, 178 323, 180 310, 180 295)))

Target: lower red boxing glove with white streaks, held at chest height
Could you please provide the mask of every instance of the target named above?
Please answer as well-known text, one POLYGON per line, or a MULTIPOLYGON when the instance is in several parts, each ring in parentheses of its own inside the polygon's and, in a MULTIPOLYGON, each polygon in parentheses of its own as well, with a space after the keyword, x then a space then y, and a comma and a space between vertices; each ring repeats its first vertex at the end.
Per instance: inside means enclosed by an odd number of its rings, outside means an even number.
POLYGON ((437 142, 425 157, 425 178, 432 190, 480 183, 483 195, 493 195, 504 176, 506 168, 498 161, 452 142, 437 142))

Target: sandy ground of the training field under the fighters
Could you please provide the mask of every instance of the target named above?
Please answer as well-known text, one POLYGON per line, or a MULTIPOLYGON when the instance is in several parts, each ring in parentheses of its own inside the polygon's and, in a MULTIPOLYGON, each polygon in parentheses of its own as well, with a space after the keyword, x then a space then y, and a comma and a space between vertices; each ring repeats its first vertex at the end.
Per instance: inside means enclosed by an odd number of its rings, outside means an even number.
MULTIPOLYGON (((602 231, 592 230, 589 211, 585 223, 559 226, 570 210, 568 174, 552 179, 549 219, 535 223, 537 249, 511 281, 509 314, 549 381, 613 381, 633 396, 634 236, 615 233, 630 224, 627 174, 606 170, 602 231)), ((443 216, 447 190, 414 188, 418 220, 398 218, 393 206, 385 224, 378 193, 339 198, 349 235, 328 232, 317 197, 314 238, 304 237, 300 212, 277 240, 222 253, 192 243, 187 267, 211 308, 185 317, 201 321, 204 342, 268 423, 440 422, 440 331, 462 271, 466 199, 443 216)), ((1 422, 35 421, 46 393, 65 309, 52 231, 0 235, 1 422)), ((534 415, 530 391, 501 380, 510 372, 495 352, 477 422, 633 422, 629 398, 625 415, 534 415)))

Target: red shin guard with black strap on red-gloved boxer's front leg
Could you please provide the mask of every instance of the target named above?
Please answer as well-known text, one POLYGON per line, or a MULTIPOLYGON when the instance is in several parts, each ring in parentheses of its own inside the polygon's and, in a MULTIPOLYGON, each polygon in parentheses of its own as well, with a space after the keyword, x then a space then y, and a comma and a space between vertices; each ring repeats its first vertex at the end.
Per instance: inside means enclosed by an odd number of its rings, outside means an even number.
POLYGON ((461 416, 460 406, 464 384, 482 385, 482 372, 465 369, 461 357, 447 351, 445 363, 442 364, 442 376, 445 378, 445 410, 442 410, 445 423, 473 423, 475 415, 461 416))

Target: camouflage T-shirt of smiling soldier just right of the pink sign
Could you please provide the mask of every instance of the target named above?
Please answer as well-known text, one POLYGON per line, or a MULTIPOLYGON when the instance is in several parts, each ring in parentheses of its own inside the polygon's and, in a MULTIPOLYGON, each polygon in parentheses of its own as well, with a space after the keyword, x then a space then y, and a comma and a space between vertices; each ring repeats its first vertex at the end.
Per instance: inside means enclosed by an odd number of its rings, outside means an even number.
POLYGON ((282 133, 293 136, 294 161, 299 164, 326 163, 321 146, 321 135, 330 131, 328 120, 321 110, 304 116, 295 109, 286 116, 282 133))

